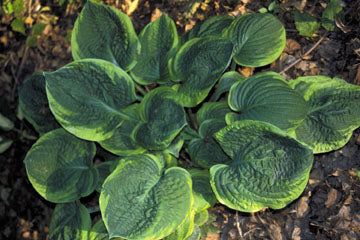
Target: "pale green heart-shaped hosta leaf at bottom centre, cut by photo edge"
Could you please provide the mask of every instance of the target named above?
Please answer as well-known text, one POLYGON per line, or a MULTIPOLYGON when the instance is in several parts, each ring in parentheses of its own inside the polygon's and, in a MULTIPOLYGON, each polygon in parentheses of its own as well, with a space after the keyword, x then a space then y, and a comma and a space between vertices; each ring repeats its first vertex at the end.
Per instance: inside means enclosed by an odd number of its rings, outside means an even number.
POLYGON ((164 169, 153 155, 123 159, 105 180, 100 194, 110 238, 155 240, 170 235, 190 214, 191 186, 187 171, 164 169))

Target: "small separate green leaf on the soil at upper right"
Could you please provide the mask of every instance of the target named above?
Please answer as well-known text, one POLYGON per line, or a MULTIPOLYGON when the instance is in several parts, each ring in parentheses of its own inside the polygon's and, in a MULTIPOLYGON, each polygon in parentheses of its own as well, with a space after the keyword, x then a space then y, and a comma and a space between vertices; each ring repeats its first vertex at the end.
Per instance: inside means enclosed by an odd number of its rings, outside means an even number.
POLYGON ((296 29, 301 36, 311 37, 319 28, 320 23, 308 13, 300 13, 297 9, 294 15, 296 29))

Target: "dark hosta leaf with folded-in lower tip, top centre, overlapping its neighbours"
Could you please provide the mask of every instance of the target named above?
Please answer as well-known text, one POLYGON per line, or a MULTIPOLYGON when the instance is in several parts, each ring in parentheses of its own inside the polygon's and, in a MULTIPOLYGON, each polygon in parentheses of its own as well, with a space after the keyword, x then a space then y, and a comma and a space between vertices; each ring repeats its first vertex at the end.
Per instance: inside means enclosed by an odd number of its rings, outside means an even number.
POLYGON ((203 101, 229 66, 233 45, 219 37, 195 38, 186 42, 169 62, 172 80, 185 107, 203 101))

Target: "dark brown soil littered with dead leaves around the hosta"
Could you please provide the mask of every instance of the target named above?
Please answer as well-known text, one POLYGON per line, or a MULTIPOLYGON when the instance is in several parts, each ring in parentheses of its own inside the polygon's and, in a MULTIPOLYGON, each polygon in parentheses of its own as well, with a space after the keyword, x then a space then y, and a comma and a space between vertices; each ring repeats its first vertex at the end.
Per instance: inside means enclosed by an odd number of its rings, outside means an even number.
MULTIPOLYGON (((6 1, 5 1, 6 2, 6 1)), ((197 22, 214 15, 239 16, 267 7, 265 0, 107 0, 106 4, 126 12, 137 33, 165 12, 175 20, 180 34, 197 22), (196 7, 197 6, 197 7, 196 7)), ((287 30, 287 46, 281 57, 260 69, 238 68, 245 76, 260 71, 281 72, 295 59, 302 58, 283 76, 294 79, 305 75, 343 78, 360 85, 360 1, 340 1, 344 9, 343 26, 332 32, 321 28, 311 38, 302 37, 294 24, 294 8, 318 19, 328 0, 278 1, 279 19, 287 30), (303 54, 319 39, 323 41, 307 56, 303 54)), ((14 15, 1 15, 0 24, 0 113, 10 118, 16 131, 0 132, 14 141, 0 155, 0 239, 48 239, 54 204, 42 199, 31 186, 23 164, 36 136, 31 125, 17 114, 17 89, 36 71, 54 71, 72 61, 69 33, 83 3, 57 0, 25 0, 20 15, 26 19, 26 35, 12 31, 14 15), (71 2, 71 3, 70 3, 71 2), (33 21, 33 22, 32 22, 33 21), (47 24, 37 37, 37 46, 26 46, 35 22, 47 24), (30 140, 29 140, 30 139, 30 140)), ((338 23, 340 26, 341 23, 338 23)), ((338 151, 315 156, 310 181, 303 194, 281 210, 265 209, 248 214, 215 205, 218 233, 206 239, 360 239, 360 131, 338 151)))

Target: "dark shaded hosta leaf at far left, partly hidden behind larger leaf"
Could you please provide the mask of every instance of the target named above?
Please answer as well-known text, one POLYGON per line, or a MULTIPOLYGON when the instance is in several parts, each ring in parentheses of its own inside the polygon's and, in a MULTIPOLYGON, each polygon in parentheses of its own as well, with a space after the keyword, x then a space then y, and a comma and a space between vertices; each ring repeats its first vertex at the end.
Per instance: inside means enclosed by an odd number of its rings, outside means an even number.
POLYGON ((50 112, 43 73, 34 73, 20 86, 19 107, 40 135, 60 127, 50 112))

